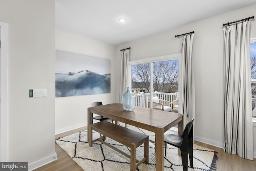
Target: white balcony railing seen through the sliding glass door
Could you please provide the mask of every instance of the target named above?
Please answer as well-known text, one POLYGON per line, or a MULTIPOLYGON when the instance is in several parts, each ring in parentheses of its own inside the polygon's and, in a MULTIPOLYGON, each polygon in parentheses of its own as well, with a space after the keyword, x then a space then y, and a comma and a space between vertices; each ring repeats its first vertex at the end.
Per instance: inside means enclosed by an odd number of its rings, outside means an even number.
MULTIPOLYGON (((162 93, 162 92, 153 92, 153 97, 158 96, 159 99, 169 100, 171 103, 176 99, 176 93, 162 93)), ((150 93, 143 93, 135 95, 136 106, 148 107, 148 100, 150 99, 150 93)))

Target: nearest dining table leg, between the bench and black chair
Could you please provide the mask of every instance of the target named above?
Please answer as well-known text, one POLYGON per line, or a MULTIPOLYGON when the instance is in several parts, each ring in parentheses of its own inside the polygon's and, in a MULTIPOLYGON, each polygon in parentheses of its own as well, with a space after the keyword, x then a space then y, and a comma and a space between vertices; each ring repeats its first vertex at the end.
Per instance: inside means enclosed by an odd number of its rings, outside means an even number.
POLYGON ((164 171, 164 129, 156 127, 156 171, 164 171))

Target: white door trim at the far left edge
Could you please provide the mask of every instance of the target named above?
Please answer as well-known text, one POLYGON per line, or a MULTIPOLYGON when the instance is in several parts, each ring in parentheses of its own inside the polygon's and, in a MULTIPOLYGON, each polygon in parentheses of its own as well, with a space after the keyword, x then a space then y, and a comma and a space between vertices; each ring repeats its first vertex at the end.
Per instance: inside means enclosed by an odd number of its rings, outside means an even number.
POLYGON ((0 161, 7 161, 7 66, 8 66, 8 24, 0 22, 0 161))

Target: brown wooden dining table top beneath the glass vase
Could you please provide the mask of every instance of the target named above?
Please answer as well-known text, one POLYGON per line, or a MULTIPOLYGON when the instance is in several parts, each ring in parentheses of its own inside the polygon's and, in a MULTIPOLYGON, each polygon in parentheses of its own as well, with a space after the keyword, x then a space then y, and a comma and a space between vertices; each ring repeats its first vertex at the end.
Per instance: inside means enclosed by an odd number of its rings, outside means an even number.
POLYGON ((156 127, 164 128, 164 131, 167 131, 183 117, 183 114, 179 113, 138 106, 133 111, 125 111, 120 103, 89 107, 88 109, 90 109, 91 113, 103 115, 104 117, 137 127, 146 127, 147 130, 152 132, 155 132, 156 127))

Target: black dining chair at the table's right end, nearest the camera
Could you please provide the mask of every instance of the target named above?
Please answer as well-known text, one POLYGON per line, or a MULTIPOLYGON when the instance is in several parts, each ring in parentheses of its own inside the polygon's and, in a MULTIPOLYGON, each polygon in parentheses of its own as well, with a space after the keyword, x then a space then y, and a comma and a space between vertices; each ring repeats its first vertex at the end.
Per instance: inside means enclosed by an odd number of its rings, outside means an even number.
POLYGON ((193 168, 193 122, 194 118, 186 125, 182 135, 172 131, 164 133, 165 156, 167 144, 180 149, 183 171, 188 170, 188 155, 190 167, 193 168))

